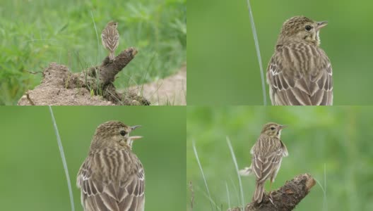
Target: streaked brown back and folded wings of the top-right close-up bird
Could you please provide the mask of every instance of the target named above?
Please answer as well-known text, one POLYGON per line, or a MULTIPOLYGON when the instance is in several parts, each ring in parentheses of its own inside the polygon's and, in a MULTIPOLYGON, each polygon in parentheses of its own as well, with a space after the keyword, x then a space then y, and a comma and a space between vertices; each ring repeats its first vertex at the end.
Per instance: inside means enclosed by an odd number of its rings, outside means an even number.
POLYGON ((267 82, 273 105, 321 106, 333 103, 331 63, 326 53, 316 46, 304 45, 303 49, 296 50, 294 46, 278 48, 268 65, 267 82), (303 62, 306 52, 312 52, 314 56, 303 62))

